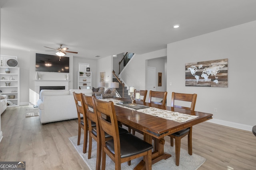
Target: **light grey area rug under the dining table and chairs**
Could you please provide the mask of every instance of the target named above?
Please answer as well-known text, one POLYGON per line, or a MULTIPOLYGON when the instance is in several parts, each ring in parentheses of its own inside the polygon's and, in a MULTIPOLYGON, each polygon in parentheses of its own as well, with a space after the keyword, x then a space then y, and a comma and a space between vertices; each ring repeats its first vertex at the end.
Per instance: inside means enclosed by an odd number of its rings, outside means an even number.
MULTIPOLYGON (((69 140, 74 145, 77 152, 83 158, 84 162, 88 165, 91 170, 96 169, 96 148, 97 143, 92 139, 92 155, 91 158, 88 159, 88 146, 87 144, 87 152, 84 154, 83 151, 83 135, 81 134, 80 145, 77 145, 78 136, 70 137, 69 140)), ((175 164, 175 147, 171 147, 169 142, 165 141, 164 152, 171 154, 172 156, 166 160, 160 160, 159 162, 152 165, 152 170, 196 170, 198 169, 204 162, 205 158, 202 156, 192 154, 189 155, 187 150, 180 149, 180 166, 176 166, 175 164)), ((121 164, 122 170, 133 170, 134 167, 142 160, 143 157, 137 158, 131 161, 131 165, 128 166, 127 162, 121 164)), ((106 170, 115 169, 114 162, 106 155, 106 170)))

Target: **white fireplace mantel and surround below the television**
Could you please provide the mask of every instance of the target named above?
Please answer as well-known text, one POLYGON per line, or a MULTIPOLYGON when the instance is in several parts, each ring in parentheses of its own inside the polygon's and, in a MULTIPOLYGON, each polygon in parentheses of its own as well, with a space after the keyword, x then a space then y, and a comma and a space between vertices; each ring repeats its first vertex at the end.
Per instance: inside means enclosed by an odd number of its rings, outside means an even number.
POLYGON ((40 86, 65 86, 68 90, 68 82, 70 80, 35 80, 36 93, 40 93, 40 86))

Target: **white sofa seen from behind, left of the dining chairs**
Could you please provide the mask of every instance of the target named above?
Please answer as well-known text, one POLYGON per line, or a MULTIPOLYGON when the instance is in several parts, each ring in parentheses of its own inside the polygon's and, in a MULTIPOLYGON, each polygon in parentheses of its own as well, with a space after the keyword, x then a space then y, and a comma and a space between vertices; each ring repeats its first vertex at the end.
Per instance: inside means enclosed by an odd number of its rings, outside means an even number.
POLYGON ((91 89, 41 90, 37 102, 41 123, 77 118, 73 92, 92 96, 91 89))

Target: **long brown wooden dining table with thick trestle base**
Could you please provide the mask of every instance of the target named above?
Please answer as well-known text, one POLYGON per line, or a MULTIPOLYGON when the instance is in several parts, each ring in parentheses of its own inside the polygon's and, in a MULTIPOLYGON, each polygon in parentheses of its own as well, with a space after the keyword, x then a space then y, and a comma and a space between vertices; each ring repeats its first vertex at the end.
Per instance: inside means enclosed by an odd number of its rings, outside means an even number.
MULTIPOLYGON (((156 141, 154 151, 152 152, 152 164, 171 157, 171 154, 164 152, 165 136, 212 119, 213 116, 211 113, 191 111, 142 101, 136 101, 136 104, 141 106, 141 109, 138 109, 138 107, 133 109, 133 107, 130 108, 128 104, 119 103, 120 101, 131 101, 127 98, 110 98, 103 100, 114 102, 116 117, 120 124, 143 132, 144 141, 150 144, 152 144, 152 139, 156 141), (143 108, 144 106, 147 108, 143 108), (148 113, 148 110, 150 110, 151 113, 148 113), (169 116, 167 116, 167 118, 163 118, 163 115, 168 114, 169 116), (172 119, 172 115, 174 119, 172 119), (179 115, 181 119, 188 117, 188 120, 180 121, 180 119, 175 118, 177 115, 179 115)), ((134 169, 146 169, 144 160, 134 169)))

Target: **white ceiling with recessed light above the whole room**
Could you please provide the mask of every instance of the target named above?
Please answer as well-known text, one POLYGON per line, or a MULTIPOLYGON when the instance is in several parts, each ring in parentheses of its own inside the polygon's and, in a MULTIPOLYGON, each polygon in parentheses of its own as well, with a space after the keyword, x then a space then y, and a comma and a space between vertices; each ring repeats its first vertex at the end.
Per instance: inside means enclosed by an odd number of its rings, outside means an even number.
POLYGON ((256 0, 1 0, 0 6, 1 49, 45 51, 62 43, 87 59, 148 53, 256 20, 256 0))

